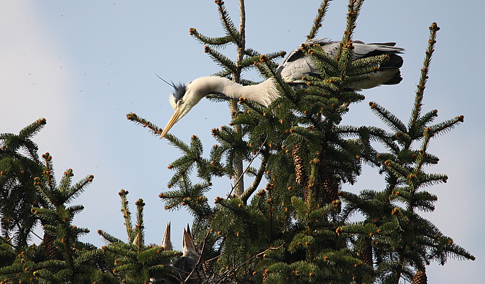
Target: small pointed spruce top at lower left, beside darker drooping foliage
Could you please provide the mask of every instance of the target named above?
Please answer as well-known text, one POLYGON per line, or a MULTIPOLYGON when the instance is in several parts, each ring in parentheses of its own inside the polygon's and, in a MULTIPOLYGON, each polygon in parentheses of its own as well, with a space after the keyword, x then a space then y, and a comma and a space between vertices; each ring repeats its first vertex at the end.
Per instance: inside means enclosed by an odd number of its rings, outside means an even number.
POLYGON ((43 243, 24 246, 11 265, 0 268, 2 279, 7 279, 6 283, 116 283, 107 272, 103 252, 79 241, 89 230, 73 225, 72 220, 83 206, 67 206, 94 177, 89 175, 73 184, 73 171, 67 169, 57 183, 52 157, 46 153, 42 159, 41 173, 32 179, 41 206, 32 207, 31 214, 43 225, 43 243))

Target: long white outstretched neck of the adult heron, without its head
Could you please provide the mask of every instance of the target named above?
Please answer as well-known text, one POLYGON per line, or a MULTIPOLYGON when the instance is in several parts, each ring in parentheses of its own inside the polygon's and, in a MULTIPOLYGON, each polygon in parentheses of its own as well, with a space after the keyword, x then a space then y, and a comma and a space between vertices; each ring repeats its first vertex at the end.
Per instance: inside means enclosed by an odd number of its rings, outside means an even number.
POLYGON ((192 81, 188 89, 194 90, 201 98, 211 93, 222 93, 232 99, 247 98, 264 106, 270 105, 279 97, 278 90, 271 78, 257 85, 242 86, 227 78, 207 76, 192 81))

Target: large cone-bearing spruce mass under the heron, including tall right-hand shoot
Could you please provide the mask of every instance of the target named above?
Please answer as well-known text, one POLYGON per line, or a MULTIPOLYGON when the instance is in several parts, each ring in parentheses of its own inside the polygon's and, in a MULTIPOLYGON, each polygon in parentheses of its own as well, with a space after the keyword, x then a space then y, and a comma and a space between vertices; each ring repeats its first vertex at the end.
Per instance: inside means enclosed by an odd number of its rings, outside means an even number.
MULTIPOLYGON (((329 2, 323 1, 318 9, 308 39, 316 36, 329 2)), ((227 126, 212 129, 218 144, 210 149, 209 158, 203 157, 198 137, 193 136, 187 145, 167 135, 182 156, 169 165, 175 174, 168 183, 170 190, 160 197, 165 209, 185 207, 193 214, 194 239, 203 247, 201 259, 213 271, 211 282, 205 283, 397 284, 402 278, 426 283, 427 278, 420 275, 425 275, 425 265, 432 260, 444 264, 448 256, 474 259, 419 215, 420 210, 433 211, 436 201, 436 195, 424 188, 447 179, 446 175, 425 173, 425 165, 438 162, 428 153, 428 145, 436 134, 463 121, 459 116, 432 124, 436 110, 421 114, 439 30, 436 24, 430 27, 408 125, 375 102, 370 103, 371 110, 391 132, 340 124, 351 105, 365 99, 352 86, 368 80, 389 59, 382 55, 352 60, 353 33, 362 2, 349 1, 347 27, 336 58, 327 56, 320 45, 302 44, 321 76, 304 77, 307 88, 296 91, 276 72, 273 59, 283 53, 260 55, 247 49, 238 65, 213 48, 230 43, 240 47, 244 42, 244 34, 228 18, 224 2, 216 4, 226 36, 210 38, 190 30, 223 68, 216 75, 231 76, 256 67, 263 77, 275 80, 281 94, 268 107, 240 98, 239 112, 229 124, 239 126, 240 131, 227 126), (381 143, 388 151, 378 152, 372 143, 381 143), (233 177, 237 156, 248 162, 245 174, 254 178, 253 183, 242 194, 228 188, 227 196, 217 197, 215 206, 210 205, 204 194, 212 188, 211 179, 233 177), (252 166, 256 158, 259 168, 252 166), (385 174, 386 188, 360 194, 341 191, 343 183, 356 183, 362 163, 385 174), (196 184, 190 179, 194 171, 200 179, 196 184), (263 179, 265 187, 260 186, 263 179), (364 221, 350 221, 356 212, 364 221)), ((132 113, 127 117, 161 134, 162 129, 151 122, 132 113)))

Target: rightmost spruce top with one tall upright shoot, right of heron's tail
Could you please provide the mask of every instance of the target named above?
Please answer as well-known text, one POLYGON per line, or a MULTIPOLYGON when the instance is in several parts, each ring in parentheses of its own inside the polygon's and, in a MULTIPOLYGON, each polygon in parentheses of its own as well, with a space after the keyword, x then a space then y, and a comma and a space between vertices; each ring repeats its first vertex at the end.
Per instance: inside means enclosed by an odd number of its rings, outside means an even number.
POLYGON ((425 187, 448 179, 446 175, 424 171, 424 166, 438 162, 438 158, 427 151, 428 145, 436 135, 463 122, 463 116, 458 116, 432 124, 437 117, 436 110, 421 115, 423 91, 438 30, 436 23, 430 26, 429 46, 408 125, 384 107, 370 103, 371 110, 392 131, 368 128, 371 137, 388 149, 388 152, 376 155, 380 172, 386 175, 386 189, 380 192, 366 190, 359 195, 341 193, 347 201, 344 216, 360 211, 366 220, 342 226, 340 230, 355 234, 356 248, 365 245, 367 239, 372 239, 378 283, 397 283, 401 277, 413 283, 426 283, 425 265, 432 260, 444 265, 448 256, 475 259, 418 214, 419 211, 431 212, 435 209, 437 196, 426 191, 425 187), (404 207, 400 204, 404 204, 404 207))

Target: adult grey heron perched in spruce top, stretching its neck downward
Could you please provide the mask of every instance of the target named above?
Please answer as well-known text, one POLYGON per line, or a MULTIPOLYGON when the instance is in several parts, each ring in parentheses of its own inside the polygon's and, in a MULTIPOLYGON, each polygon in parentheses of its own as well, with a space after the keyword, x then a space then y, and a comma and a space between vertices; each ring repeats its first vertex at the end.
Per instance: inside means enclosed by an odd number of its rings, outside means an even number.
MULTIPOLYGON (((306 42, 306 45, 321 45, 323 51, 332 58, 338 53, 340 42, 327 39, 313 39, 306 42)), ((361 41, 353 42, 353 57, 356 60, 364 57, 387 54, 389 60, 381 62, 377 72, 371 78, 361 84, 353 86, 354 90, 363 90, 380 85, 399 84, 403 79, 399 68, 403 65, 403 58, 397 55, 403 53, 404 48, 394 46, 395 43, 364 44, 361 41)), ((301 89, 304 85, 302 77, 319 76, 320 72, 313 65, 311 60, 305 56, 302 47, 294 49, 278 66, 277 71, 281 77, 295 90, 301 89)), ((163 129, 162 139, 182 117, 184 117, 203 97, 209 94, 221 94, 230 99, 247 98, 259 105, 268 106, 280 95, 275 86, 273 78, 262 83, 251 86, 242 86, 227 78, 218 76, 206 76, 195 79, 188 84, 172 85, 174 91, 169 97, 170 104, 175 109, 174 114, 163 129)))

